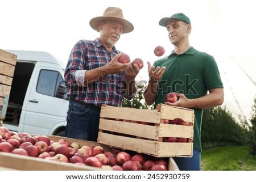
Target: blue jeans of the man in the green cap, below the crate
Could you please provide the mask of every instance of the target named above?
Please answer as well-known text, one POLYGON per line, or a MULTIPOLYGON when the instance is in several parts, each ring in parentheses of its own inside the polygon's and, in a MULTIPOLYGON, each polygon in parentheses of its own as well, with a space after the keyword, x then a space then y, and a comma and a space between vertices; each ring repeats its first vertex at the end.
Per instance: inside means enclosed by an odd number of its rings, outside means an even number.
POLYGON ((174 157, 174 160, 180 171, 200 171, 201 152, 193 150, 192 158, 174 157))

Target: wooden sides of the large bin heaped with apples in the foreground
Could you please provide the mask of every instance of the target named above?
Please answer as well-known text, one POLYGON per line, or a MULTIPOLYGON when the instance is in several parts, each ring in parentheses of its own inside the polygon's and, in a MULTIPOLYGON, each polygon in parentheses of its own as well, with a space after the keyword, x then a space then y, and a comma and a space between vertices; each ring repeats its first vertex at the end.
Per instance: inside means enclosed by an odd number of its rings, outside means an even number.
MULTIPOLYGON (((67 139, 69 142, 78 142, 80 146, 97 146, 103 147, 104 151, 112 151, 112 148, 107 145, 102 145, 97 142, 85 141, 81 139, 73 139, 59 136, 48 136, 51 140, 57 142, 61 138, 67 139)), ((0 170, 21 170, 21 171, 102 171, 103 168, 91 166, 78 166, 72 163, 56 162, 31 156, 23 156, 18 154, 0 152, 0 170), (26 164, 26 165, 24 165, 26 164)), ((168 170, 179 171, 179 167, 174 159, 168 158, 168 170)))

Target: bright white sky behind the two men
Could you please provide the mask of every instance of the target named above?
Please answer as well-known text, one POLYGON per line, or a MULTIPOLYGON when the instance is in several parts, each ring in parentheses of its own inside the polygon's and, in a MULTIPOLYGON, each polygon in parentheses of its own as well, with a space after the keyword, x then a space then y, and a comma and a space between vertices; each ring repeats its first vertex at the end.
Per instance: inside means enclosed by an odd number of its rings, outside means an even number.
POLYGON ((256 95, 256 11, 251 0, 0 0, 0 49, 38 50, 59 58, 65 67, 69 53, 81 39, 94 40, 99 33, 89 26, 109 6, 119 7, 134 31, 116 44, 131 60, 141 58, 144 67, 137 81, 148 79, 147 64, 158 60, 154 48, 168 54, 173 45, 159 20, 183 12, 191 19, 190 45, 211 54, 224 82, 226 108, 235 118, 251 117, 256 95))

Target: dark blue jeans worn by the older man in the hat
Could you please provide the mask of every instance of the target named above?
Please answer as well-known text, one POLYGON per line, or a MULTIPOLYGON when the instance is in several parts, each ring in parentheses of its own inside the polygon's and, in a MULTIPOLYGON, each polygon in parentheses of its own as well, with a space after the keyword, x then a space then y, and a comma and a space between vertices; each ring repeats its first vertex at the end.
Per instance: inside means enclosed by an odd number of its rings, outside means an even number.
POLYGON ((97 141, 100 111, 69 100, 65 137, 97 141))

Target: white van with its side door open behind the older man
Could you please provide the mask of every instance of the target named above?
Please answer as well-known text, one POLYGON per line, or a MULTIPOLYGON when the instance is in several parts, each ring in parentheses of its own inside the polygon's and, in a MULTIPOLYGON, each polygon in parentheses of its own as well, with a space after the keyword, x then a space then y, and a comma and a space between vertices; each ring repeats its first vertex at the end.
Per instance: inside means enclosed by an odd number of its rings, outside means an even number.
POLYGON ((64 136, 69 102, 59 61, 47 52, 6 51, 16 54, 17 62, 3 126, 64 136))

